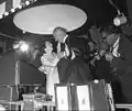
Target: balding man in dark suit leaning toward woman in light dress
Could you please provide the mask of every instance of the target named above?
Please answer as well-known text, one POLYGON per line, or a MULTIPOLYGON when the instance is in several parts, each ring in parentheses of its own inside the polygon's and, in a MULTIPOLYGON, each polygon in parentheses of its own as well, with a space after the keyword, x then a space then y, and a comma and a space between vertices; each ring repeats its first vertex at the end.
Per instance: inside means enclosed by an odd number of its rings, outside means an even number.
POLYGON ((53 31, 57 42, 57 55, 61 59, 57 64, 61 82, 87 82, 92 79, 90 69, 82 60, 84 43, 72 37, 64 27, 53 31))

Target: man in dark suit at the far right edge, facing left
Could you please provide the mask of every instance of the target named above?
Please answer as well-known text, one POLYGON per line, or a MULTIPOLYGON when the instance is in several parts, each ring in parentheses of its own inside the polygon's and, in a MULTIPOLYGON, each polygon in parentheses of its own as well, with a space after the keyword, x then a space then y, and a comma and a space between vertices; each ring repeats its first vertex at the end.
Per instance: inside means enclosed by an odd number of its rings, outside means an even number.
POLYGON ((112 47, 111 67, 118 74, 113 78, 117 102, 132 102, 132 42, 125 35, 116 32, 116 29, 106 41, 112 47))

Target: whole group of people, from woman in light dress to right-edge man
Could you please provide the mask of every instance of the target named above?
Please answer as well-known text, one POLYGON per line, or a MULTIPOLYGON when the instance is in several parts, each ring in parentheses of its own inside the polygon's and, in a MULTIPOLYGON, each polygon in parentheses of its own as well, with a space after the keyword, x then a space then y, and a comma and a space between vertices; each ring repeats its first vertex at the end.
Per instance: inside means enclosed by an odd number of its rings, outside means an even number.
POLYGON ((97 31, 91 27, 89 32, 91 37, 87 43, 87 55, 84 55, 86 46, 82 41, 68 35, 64 27, 55 27, 53 36, 56 44, 45 42, 42 66, 38 68, 46 74, 46 92, 54 100, 55 84, 85 84, 105 79, 112 85, 117 102, 131 102, 132 90, 128 88, 132 85, 131 41, 114 26, 97 31))

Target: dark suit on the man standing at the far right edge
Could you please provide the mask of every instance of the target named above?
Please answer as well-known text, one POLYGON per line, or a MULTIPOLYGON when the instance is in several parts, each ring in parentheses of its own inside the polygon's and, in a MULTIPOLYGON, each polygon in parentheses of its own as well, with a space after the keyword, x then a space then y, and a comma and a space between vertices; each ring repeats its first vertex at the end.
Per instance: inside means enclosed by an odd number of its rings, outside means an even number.
POLYGON ((112 66, 118 68, 118 74, 114 76, 114 97, 116 101, 132 103, 132 42, 122 35, 119 42, 118 52, 119 58, 113 58, 112 66), (117 86, 119 82, 119 87, 117 86))

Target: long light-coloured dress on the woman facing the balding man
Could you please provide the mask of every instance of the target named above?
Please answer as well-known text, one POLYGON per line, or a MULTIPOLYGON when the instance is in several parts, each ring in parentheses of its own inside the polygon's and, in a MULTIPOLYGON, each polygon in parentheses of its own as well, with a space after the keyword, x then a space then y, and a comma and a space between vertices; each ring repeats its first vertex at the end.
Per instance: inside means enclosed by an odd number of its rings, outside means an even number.
POLYGON ((46 92, 50 96, 53 96, 53 101, 55 101, 54 96, 54 85, 59 84, 58 71, 57 71, 57 63, 58 58, 55 54, 43 54, 41 57, 42 66, 40 70, 46 74, 46 92))

